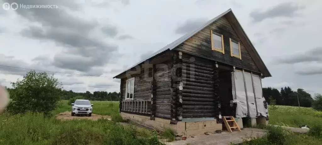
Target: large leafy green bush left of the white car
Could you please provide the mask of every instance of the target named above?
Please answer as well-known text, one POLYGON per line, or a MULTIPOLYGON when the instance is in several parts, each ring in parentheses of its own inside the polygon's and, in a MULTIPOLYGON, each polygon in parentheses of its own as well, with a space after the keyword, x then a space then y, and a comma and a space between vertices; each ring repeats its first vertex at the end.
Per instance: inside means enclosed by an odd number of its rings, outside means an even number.
POLYGON ((62 83, 47 73, 36 73, 30 71, 24 75, 22 80, 11 83, 13 86, 10 92, 12 101, 7 111, 18 114, 32 112, 51 113, 60 100, 62 83))

